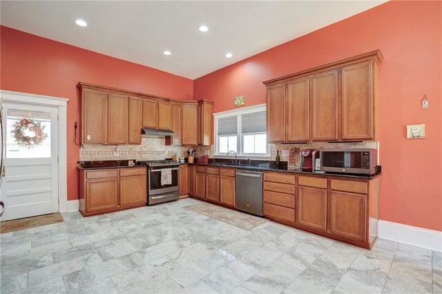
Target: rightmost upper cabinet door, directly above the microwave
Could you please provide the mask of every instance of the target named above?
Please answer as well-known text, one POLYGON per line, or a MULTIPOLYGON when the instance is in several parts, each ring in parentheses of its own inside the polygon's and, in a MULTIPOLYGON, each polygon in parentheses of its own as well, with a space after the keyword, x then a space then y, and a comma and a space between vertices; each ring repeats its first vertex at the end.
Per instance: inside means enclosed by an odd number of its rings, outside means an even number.
POLYGON ((372 139, 372 61, 346 66, 342 77, 342 138, 372 139))

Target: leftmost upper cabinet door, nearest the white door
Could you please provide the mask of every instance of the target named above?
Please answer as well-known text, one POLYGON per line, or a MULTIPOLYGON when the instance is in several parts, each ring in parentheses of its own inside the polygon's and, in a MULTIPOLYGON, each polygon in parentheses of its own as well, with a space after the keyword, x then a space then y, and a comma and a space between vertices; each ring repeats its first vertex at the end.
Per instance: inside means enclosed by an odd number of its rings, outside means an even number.
POLYGON ((105 92, 83 90, 81 99, 82 133, 84 143, 106 144, 108 104, 105 92))

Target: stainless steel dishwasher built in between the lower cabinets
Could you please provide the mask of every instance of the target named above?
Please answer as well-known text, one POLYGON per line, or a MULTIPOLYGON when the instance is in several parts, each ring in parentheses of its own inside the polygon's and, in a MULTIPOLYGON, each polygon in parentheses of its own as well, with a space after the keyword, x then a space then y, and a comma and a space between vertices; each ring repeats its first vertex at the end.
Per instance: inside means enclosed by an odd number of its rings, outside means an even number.
POLYGON ((236 170, 236 209, 262 217, 262 172, 236 170))

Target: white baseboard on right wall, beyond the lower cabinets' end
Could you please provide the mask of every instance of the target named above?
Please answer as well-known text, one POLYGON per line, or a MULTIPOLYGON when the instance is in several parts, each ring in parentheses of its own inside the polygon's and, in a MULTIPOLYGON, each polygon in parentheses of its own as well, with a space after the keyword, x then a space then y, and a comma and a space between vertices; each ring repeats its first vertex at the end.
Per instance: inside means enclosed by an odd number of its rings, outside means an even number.
POLYGON ((378 237, 442 252, 442 232, 379 220, 378 237))

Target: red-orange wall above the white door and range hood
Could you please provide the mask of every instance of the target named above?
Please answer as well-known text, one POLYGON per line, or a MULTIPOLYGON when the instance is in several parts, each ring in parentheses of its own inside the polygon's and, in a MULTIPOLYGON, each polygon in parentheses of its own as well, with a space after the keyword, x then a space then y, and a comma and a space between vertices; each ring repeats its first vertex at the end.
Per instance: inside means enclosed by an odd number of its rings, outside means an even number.
MULTIPOLYGON (((68 98, 68 200, 78 199, 74 121, 79 81, 135 92, 193 99, 193 81, 65 43, 0 27, 2 90, 68 98)), ((158 56, 162 58, 162 56, 158 56)))

